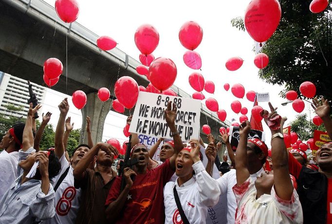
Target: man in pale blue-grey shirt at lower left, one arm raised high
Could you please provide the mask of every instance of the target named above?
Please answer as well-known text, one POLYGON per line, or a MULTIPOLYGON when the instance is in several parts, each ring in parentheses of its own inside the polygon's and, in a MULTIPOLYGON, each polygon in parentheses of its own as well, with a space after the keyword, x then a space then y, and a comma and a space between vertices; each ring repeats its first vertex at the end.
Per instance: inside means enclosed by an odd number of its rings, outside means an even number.
POLYGON ((0 223, 3 224, 38 223, 55 215, 55 192, 50 180, 59 173, 60 163, 54 151, 36 153, 33 149, 32 120, 39 108, 40 105, 37 105, 33 109, 30 103, 23 131, 22 149, 19 150, 20 176, 0 200, 0 223))

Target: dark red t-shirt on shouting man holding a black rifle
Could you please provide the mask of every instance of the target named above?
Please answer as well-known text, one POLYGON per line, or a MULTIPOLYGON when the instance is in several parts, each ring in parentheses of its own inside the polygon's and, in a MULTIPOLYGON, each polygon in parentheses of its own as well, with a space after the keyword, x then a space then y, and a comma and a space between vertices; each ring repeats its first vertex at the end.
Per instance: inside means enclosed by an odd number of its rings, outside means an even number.
MULTIPOLYGON (((169 159, 161 166, 148 170, 146 174, 135 176, 129 190, 123 214, 117 224, 161 224, 165 222, 164 186, 174 171, 169 167, 169 159)), ((117 177, 111 187, 105 205, 114 202, 121 187, 121 177, 117 177)))

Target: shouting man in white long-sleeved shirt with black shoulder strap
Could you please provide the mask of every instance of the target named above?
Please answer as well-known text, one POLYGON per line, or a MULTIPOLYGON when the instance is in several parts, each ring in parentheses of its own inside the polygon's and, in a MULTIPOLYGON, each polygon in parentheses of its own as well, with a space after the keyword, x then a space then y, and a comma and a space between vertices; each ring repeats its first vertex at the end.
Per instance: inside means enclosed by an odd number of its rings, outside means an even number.
MULTIPOLYGON (((190 224, 205 223, 207 208, 219 201, 218 183, 206 172, 200 159, 200 143, 198 140, 192 140, 190 143, 196 147, 182 149, 176 158, 176 182, 168 182, 164 187, 166 224, 182 223, 184 220, 177 207, 174 190, 190 224)), ((209 144, 208 148, 214 148, 213 144, 209 144)))

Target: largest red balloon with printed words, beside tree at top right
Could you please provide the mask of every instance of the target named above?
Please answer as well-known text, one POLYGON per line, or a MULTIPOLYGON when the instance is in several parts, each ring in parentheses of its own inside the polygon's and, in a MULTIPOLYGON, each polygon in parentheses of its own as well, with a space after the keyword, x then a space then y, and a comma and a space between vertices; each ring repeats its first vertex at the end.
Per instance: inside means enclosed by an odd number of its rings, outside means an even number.
POLYGON ((281 7, 277 0, 252 0, 245 12, 244 25, 257 42, 268 40, 277 30, 281 7))

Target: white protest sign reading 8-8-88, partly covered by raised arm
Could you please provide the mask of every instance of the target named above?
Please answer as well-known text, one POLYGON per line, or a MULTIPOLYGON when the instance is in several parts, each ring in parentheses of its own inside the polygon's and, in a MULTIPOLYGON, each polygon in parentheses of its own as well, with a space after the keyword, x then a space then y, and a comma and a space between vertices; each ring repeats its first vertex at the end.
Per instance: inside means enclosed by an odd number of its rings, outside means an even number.
POLYGON ((183 141, 200 137, 201 101, 190 98, 140 92, 132 116, 129 132, 172 138, 165 120, 169 101, 177 107, 175 125, 183 141))

